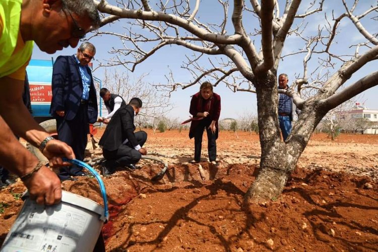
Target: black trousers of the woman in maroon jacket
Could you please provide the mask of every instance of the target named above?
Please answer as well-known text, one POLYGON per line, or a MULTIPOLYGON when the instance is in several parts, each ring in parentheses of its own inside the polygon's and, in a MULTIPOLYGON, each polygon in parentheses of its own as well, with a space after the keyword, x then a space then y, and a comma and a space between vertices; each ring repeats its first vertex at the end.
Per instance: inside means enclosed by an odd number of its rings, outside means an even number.
MULTIPOLYGON (((215 161, 217 159, 217 143, 216 143, 216 133, 212 133, 209 128, 210 123, 203 120, 196 127, 194 133, 194 160, 197 162, 201 161, 201 150, 202 150, 202 136, 204 135, 204 130, 207 133, 207 148, 209 152, 209 160, 215 161)), ((216 129, 218 131, 218 129, 216 129)))

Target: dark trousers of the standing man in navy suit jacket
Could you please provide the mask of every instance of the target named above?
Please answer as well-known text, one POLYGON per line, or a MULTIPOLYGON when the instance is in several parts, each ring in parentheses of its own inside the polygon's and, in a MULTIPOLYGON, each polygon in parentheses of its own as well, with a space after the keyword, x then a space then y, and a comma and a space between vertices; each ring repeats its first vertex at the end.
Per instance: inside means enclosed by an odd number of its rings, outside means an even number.
MULTIPOLYGON (((89 133, 88 105, 81 104, 76 116, 72 120, 66 120, 60 116, 57 116, 55 119, 58 139, 71 146, 76 159, 83 161, 89 133)), ((60 167, 58 177, 60 180, 65 180, 70 178, 70 176, 80 176, 83 174, 82 167, 72 165, 60 167)))

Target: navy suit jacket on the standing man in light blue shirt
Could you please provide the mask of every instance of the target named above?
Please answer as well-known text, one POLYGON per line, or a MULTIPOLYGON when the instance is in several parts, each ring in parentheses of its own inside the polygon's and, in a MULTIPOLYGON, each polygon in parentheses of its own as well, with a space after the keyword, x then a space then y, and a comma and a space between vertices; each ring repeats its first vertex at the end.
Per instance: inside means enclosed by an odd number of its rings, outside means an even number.
MULTIPOLYGON (((93 84, 93 77, 90 68, 87 71, 91 76, 88 99, 88 121, 94 123, 97 120, 97 96, 93 84)), ((52 70, 52 100, 50 113, 58 116, 55 111, 65 111, 65 119, 72 120, 80 107, 80 100, 83 94, 83 82, 79 72, 79 65, 76 56, 59 56, 56 58, 52 70)))

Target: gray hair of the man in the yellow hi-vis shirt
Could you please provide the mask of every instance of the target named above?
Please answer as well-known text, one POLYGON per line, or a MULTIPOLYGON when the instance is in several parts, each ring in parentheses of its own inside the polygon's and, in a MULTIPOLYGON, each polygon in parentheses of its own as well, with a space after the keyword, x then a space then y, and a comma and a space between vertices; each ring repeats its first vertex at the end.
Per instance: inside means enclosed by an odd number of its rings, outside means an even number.
POLYGON ((92 21, 92 27, 97 29, 100 26, 100 16, 93 0, 61 0, 71 12, 79 17, 88 17, 92 21))

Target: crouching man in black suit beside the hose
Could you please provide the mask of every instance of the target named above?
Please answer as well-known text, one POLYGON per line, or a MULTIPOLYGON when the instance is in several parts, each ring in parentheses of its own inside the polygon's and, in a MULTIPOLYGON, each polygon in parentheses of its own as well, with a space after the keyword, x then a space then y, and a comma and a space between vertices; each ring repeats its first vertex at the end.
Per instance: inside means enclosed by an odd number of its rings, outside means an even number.
POLYGON ((134 116, 141 108, 141 99, 134 97, 128 105, 122 104, 111 117, 99 142, 106 159, 102 167, 104 176, 112 174, 117 166, 136 169, 135 164, 142 155, 147 154, 146 148, 142 147, 147 141, 147 133, 144 131, 134 133, 134 116))

